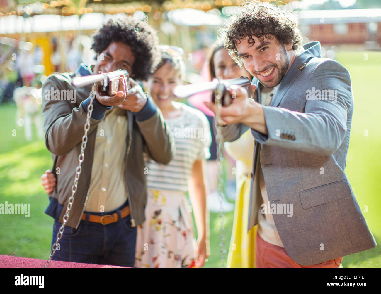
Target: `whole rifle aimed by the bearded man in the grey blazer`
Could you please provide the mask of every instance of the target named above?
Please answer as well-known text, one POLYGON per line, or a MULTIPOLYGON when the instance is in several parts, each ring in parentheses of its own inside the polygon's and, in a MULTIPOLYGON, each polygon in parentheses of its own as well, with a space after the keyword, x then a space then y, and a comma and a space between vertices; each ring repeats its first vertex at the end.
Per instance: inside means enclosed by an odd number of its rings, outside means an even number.
POLYGON ((227 92, 232 85, 238 85, 245 88, 251 97, 251 82, 248 77, 239 77, 237 79, 213 79, 211 82, 193 84, 193 85, 181 85, 176 86, 173 89, 173 94, 178 98, 186 98, 191 95, 204 92, 204 91, 213 91, 212 92, 212 102, 215 103, 215 97, 220 97, 221 105, 227 106, 232 103, 232 97, 227 92))

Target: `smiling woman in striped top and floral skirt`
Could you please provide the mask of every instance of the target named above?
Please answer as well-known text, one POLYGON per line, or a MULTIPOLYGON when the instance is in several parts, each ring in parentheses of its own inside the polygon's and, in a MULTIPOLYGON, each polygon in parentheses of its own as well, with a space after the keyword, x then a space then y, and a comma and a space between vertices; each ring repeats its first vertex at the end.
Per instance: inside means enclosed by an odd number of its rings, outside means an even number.
POLYGON ((161 51, 162 62, 149 77, 148 93, 171 128, 176 154, 169 164, 145 156, 146 220, 138 228, 135 266, 201 267, 209 251, 203 166, 209 154, 210 126, 201 111, 174 101, 173 88, 182 84, 185 70, 182 49, 161 46, 161 51))

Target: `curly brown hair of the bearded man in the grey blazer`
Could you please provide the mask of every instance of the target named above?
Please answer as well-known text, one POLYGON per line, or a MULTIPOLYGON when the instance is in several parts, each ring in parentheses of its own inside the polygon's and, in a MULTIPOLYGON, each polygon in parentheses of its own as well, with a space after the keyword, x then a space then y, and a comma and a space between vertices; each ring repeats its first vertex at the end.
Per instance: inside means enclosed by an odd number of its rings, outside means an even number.
POLYGON ((293 43, 292 49, 299 50, 302 34, 298 17, 292 11, 258 1, 246 2, 240 8, 239 12, 232 15, 230 24, 219 31, 220 36, 224 37, 224 45, 229 50, 229 55, 240 66, 243 66, 243 62, 238 56, 236 44, 247 36, 250 46, 254 45, 253 36, 262 41, 264 37, 275 37, 275 41, 281 44, 293 43))

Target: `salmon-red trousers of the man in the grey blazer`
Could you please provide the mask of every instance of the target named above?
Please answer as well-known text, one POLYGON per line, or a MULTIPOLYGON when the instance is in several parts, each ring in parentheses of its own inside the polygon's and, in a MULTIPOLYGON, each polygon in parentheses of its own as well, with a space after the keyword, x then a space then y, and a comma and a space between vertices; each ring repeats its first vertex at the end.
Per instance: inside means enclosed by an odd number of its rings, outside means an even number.
POLYGON ((301 266, 288 256, 285 248, 264 241, 258 232, 255 238, 255 267, 340 267, 342 257, 312 266, 301 266))

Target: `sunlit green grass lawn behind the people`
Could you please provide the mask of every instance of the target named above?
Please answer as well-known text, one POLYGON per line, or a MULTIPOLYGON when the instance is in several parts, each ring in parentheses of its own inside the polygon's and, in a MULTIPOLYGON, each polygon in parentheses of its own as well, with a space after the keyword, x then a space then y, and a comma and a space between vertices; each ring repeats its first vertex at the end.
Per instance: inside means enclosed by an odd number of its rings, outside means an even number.
MULTIPOLYGON (((339 52, 337 59, 352 77, 355 109, 346 174, 368 226, 381 240, 381 150, 377 83, 381 77, 381 52, 339 52), (364 54, 368 60, 364 60, 364 54), (367 130, 368 136, 364 136, 367 130), (368 212, 364 212, 367 208, 368 212)), ((46 259, 50 252, 53 219, 44 213, 48 196, 40 175, 51 168, 51 156, 42 141, 24 139, 24 129, 16 126, 15 106, 0 106, 0 203, 30 203, 30 217, 0 215, 0 254, 46 259), (16 136, 12 136, 16 130, 16 136)), ((34 136, 36 138, 36 136, 34 136)), ((225 214, 225 248, 229 249, 233 212, 225 214)), ((206 267, 219 267, 219 218, 210 214, 211 256, 206 267)), ((380 267, 380 247, 345 256, 344 267, 380 267)))

